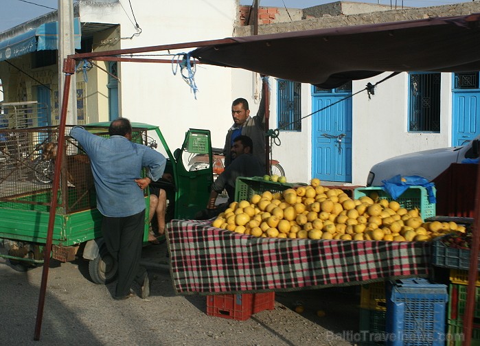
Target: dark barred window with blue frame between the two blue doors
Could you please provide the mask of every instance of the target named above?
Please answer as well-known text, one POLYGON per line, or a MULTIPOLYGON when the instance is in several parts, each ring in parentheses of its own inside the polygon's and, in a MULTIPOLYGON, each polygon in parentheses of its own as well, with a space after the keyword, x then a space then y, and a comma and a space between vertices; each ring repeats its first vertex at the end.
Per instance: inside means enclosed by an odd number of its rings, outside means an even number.
POLYGON ((409 131, 440 131, 440 73, 409 76, 409 131))

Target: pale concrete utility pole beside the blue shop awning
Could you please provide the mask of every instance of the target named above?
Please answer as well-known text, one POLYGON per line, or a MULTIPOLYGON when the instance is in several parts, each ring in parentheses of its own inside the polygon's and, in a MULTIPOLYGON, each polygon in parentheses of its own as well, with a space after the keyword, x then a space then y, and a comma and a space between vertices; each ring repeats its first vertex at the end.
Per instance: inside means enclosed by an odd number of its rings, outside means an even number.
MULTIPOLYGON (((75 54, 75 32, 73 30, 73 1, 58 0, 58 100, 63 100, 61 86, 65 84, 62 64, 67 56, 75 54)), ((77 124, 77 80, 75 73, 69 76, 71 81, 67 107, 67 124, 77 124)))

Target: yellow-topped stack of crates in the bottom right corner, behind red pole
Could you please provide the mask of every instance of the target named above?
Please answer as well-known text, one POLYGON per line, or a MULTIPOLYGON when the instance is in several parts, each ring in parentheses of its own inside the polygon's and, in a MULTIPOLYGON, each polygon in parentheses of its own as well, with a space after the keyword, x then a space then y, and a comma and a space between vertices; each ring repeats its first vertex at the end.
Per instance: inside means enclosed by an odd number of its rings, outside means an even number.
MULTIPOLYGON (((448 346, 460 346, 464 340, 464 314, 467 303, 468 271, 450 269, 448 299, 448 346)), ((475 283, 475 308, 470 345, 480 346, 480 281, 475 283)))

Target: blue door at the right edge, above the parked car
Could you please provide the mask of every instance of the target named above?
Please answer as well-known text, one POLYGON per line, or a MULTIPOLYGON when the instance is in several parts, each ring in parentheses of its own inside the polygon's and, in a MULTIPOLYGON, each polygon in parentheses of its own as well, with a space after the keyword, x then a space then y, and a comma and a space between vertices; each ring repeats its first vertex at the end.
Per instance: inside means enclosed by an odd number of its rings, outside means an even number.
POLYGON ((452 145, 464 146, 480 134, 479 72, 454 73, 452 145))

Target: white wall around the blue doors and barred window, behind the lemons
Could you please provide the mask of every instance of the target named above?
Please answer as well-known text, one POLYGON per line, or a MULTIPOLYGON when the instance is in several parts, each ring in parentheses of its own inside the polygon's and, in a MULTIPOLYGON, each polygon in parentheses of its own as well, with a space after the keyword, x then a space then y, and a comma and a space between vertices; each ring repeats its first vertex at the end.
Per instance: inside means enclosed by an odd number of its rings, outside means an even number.
MULTIPOLYGON (((250 73, 250 72, 248 72, 250 73)), ((251 74, 251 73, 250 73, 251 74)), ((382 73, 374 78, 353 82, 352 93, 362 89, 368 82, 375 84, 390 73, 382 73)), ((233 80, 233 97, 249 93, 249 76, 242 71, 235 71, 233 80)), ((409 132, 408 74, 400 73, 378 84, 375 95, 369 99, 366 91, 352 98, 352 184, 365 185, 372 165, 400 154, 442 148, 451 143, 451 73, 442 73, 441 89, 441 132, 409 132)), ((277 80, 269 78, 271 84, 270 128, 277 128, 277 80)), ((251 87, 250 87, 251 88, 251 87)), ((301 132, 279 132, 280 146, 272 146, 273 159, 277 159, 286 171, 288 181, 308 182, 312 178, 312 97, 310 84, 303 84, 301 101, 301 132)), ((246 97, 246 96, 243 96, 246 97)), ((247 98, 247 97, 246 97, 247 98)), ((247 98, 248 99, 248 98, 247 98)), ((258 106, 251 106, 254 115, 258 106)), ((347 184, 350 185, 350 184, 347 184)))

